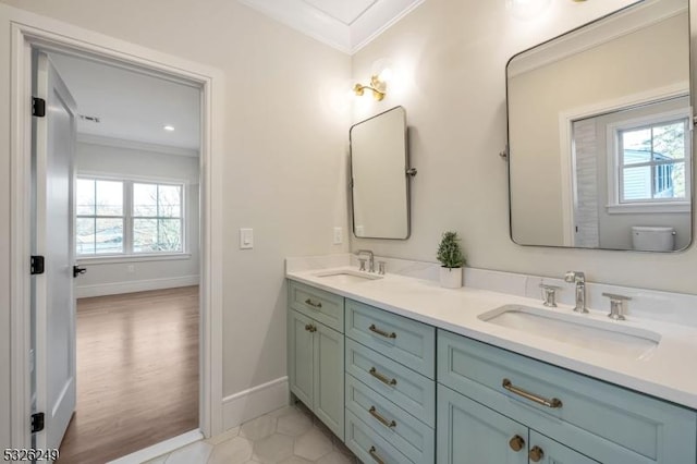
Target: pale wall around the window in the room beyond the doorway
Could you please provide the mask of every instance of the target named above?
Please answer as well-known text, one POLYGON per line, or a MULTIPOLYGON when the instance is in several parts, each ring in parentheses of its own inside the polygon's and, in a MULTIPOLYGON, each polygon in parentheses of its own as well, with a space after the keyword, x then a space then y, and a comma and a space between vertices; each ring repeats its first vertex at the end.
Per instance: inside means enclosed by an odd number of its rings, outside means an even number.
POLYGON ((87 269, 76 282, 77 297, 127 293, 150 289, 168 289, 195 284, 198 280, 198 168, 199 159, 167 155, 151 150, 121 148, 94 143, 78 143, 75 170, 77 175, 115 175, 124 179, 183 181, 185 198, 185 259, 119 259, 109 262, 81 259, 87 269), (129 267, 133 266, 133 271, 129 267))

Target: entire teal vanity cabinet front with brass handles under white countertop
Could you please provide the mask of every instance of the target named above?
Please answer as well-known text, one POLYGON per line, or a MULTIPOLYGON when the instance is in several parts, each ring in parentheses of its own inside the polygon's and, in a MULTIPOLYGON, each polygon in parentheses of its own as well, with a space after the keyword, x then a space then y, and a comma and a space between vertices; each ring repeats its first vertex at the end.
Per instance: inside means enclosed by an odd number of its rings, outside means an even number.
POLYGON ((289 381, 363 462, 697 464, 697 412, 289 281, 289 381))

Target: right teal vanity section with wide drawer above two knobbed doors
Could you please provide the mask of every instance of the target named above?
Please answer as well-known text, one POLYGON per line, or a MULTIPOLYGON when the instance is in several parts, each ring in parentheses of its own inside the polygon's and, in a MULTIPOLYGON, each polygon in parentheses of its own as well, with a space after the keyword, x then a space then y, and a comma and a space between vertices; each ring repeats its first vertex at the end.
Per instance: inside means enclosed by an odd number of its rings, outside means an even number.
POLYGON ((444 330, 438 382, 438 464, 697 462, 695 411, 444 330))

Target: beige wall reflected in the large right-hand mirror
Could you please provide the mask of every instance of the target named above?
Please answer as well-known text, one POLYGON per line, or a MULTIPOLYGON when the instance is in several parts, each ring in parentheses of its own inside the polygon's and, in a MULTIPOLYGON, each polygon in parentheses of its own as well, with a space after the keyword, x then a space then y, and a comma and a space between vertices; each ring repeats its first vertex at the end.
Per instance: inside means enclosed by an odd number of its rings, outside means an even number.
POLYGON ((560 114, 686 83, 688 41, 685 12, 509 80, 516 242, 564 243, 560 114))

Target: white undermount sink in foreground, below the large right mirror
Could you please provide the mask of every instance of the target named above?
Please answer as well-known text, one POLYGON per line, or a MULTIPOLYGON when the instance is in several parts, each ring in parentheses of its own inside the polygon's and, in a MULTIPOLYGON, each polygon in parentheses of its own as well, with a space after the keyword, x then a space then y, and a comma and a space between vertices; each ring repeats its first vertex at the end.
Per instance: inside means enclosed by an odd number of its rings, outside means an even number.
POLYGON ((648 357, 661 341, 659 333, 622 327, 622 322, 606 322, 523 305, 501 306, 478 317, 497 326, 632 359, 648 357))

